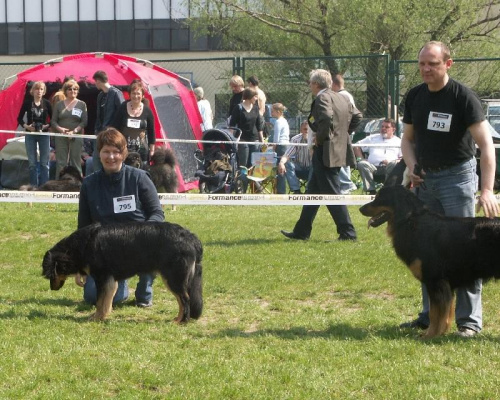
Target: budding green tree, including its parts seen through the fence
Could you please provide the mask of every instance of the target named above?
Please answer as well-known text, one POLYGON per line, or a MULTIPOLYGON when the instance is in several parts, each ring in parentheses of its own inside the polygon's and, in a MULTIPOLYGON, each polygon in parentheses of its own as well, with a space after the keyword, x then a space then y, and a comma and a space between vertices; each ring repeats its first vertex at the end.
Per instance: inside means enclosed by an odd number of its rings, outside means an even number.
MULTIPOLYGON (((345 73, 349 90, 357 92, 355 98, 365 116, 387 113, 392 90, 386 79, 386 58, 350 61, 341 56, 389 55, 391 60, 416 60, 428 40, 449 44, 454 58, 498 56, 500 0, 190 0, 190 4, 193 30, 222 37, 226 49, 275 57, 325 57, 302 66, 261 63, 257 73, 269 77, 267 87, 276 77, 283 81, 293 75, 305 81, 312 68, 345 73)), ((487 75, 496 78, 481 87, 483 93, 491 93, 495 85, 498 90, 497 65, 487 67, 487 75)), ((467 68, 462 67, 460 73, 467 76, 467 68)), ((417 75, 413 77, 405 75, 403 90, 419 80, 417 75)), ((289 104, 295 102, 305 112, 307 88, 281 81, 281 92, 294 93, 289 104)))

